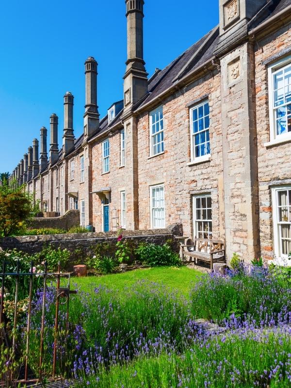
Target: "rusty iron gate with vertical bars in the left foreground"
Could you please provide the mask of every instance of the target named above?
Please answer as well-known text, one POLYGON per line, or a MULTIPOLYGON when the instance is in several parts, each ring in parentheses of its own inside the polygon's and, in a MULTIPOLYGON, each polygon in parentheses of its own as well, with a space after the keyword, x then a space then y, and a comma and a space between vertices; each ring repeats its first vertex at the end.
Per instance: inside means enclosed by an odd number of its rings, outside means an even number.
MULTIPOLYGON (((66 372, 66 356, 67 356, 67 339, 69 333, 69 299, 70 294, 77 293, 77 291, 70 290, 70 273, 62 273, 60 262, 58 263, 58 271, 56 273, 48 273, 48 265, 47 261, 43 262, 43 271, 36 272, 35 267, 33 266, 33 261, 31 262, 30 271, 28 273, 23 273, 20 271, 20 260, 17 259, 16 262, 16 272, 6 272, 7 263, 3 262, 1 276, 1 297, 0 297, 0 347, 5 354, 5 360, 7 359, 7 365, 12 364, 14 360, 20 357, 19 354, 19 339, 22 341, 22 349, 24 349, 24 353, 22 354, 22 366, 19 370, 19 374, 14 376, 10 373, 2 372, 1 376, 1 387, 16 387, 20 384, 29 384, 29 383, 43 383, 44 375, 43 375, 43 356, 44 356, 44 334, 45 334, 45 314, 46 314, 46 296, 48 290, 48 281, 51 281, 53 287, 55 287, 55 317, 54 317, 54 342, 53 342, 53 355, 52 355, 52 373, 49 378, 46 376, 46 381, 56 381, 58 379, 62 379, 62 375, 65 375, 66 372), (39 283, 42 285, 42 301, 41 301, 41 315, 40 315, 40 333, 39 333, 39 364, 38 364, 38 372, 32 375, 30 372, 29 366, 29 356, 30 356, 30 334, 31 334, 31 323, 32 323, 32 304, 34 303, 34 292, 33 292, 33 284, 34 281, 38 278, 39 283), (15 279, 15 288, 14 295, 11 297, 9 292, 7 292, 5 288, 5 282, 7 283, 8 279, 15 279), (20 280, 27 280, 27 315, 25 318, 24 325, 22 324, 22 336, 19 336, 17 331, 17 319, 18 313, 17 308, 19 304, 19 283, 20 280), (65 281, 65 286, 61 286, 65 281), (13 319, 10 321, 7 320, 5 314, 4 300, 5 297, 9 296, 10 301, 14 301, 14 314, 13 319), (59 311, 60 308, 65 309, 65 322, 63 323, 63 327, 65 327, 65 351, 60 352, 59 346, 59 311), (6 351, 5 351, 6 349, 6 351), (61 355, 61 356, 60 356, 61 355), (61 367, 60 367, 61 365, 61 367), (56 370, 58 366, 58 375, 56 375, 56 370)), ((8 290, 9 291, 9 290, 8 290)))

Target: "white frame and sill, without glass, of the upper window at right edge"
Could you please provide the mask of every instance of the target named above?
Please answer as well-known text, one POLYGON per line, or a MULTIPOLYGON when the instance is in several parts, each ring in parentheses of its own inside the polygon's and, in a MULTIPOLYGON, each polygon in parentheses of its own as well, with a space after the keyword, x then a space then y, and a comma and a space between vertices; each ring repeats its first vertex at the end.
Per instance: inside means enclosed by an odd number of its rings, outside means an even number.
MULTIPOLYGON (((281 58, 279 61, 275 62, 274 64, 270 65, 268 67, 268 88, 269 88, 269 122, 270 122, 270 143, 266 143, 265 145, 272 145, 276 143, 286 142, 291 140, 291 131, 277 135, 276 134, 276 125, 275 125, 275 110, 276 108, 279 108, 280 106, 284 105, 287 106, 291 104, 291 101, 286 104, 278 105, 275 107, 275 101, 274 101, 274 76, 276 73, 285 70, 287 66, 291 65, 291 55, 281 58)), ((284 83, 285 87, 285 83, 284 83)), ((285 93, 284 93, 285 95, 285 93)))

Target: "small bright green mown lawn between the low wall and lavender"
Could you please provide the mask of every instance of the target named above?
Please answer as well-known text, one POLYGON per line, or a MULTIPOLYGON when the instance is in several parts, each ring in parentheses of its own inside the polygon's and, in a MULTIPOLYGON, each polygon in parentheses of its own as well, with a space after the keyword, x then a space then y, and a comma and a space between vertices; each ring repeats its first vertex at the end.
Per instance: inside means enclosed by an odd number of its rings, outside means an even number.
MULTIPOLYGON (((197 282, 203 274, 188 267, 155 267, 122 274, 105 276, 87 276, 74 278, 72 285, 77 283, 81 291, 94 291, 99 285, 106 286, 111 290, 122 291, 132 286, 139 280, 148 280, 164 284, 172 290, 178 290, 183 295, 189 295, 191 286, 197 282)), ((73 286, 74 288, 74 286, 73 286)))

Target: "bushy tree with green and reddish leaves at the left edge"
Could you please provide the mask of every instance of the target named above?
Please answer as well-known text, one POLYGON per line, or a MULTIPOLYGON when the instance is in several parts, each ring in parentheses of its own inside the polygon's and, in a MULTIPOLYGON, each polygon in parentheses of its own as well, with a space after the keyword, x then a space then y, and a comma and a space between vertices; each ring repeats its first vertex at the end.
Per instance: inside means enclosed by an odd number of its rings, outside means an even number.
POLYGON ((0 186, 0 236, 11 236, 31 217, 32 200, 25 186, 0 186))

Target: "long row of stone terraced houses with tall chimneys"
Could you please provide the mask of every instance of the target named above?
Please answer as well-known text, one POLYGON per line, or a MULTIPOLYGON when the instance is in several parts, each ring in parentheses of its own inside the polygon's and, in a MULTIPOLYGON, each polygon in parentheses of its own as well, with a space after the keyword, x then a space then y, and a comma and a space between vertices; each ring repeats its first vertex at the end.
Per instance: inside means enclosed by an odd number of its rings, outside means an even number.
MULTIPOLYGON (((148 77, 144 1, 127 0, 124 96, 99 118, 97 62, 85 62, 84 130, 64 96, 63 146, 50 116, 11 179, 43 211, 79 209, 96 231, 182 223, 226 239, 228 258, 291 251, 291 0, 220 0, 220 21, 148 77), (40 158, 39 158, 40 151, 40 158)), ((173 10, 174 11, 174 10, 173 10)))

